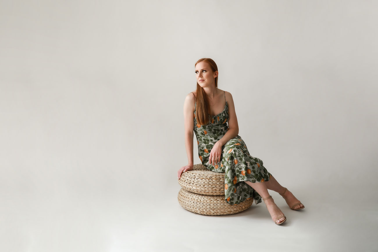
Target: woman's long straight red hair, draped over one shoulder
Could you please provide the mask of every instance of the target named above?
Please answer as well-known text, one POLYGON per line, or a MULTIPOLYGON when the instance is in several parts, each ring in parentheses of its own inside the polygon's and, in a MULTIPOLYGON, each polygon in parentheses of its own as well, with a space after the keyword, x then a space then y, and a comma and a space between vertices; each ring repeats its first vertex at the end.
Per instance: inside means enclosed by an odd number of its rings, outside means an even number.
MULTIPOLYGON (((197 60, 195 62, 194 67, 201 61, 209 63, 209 66, 213 72, 218 71, 218 66, 215 64, 215 61, 210 59, 210 58, 202 58, 197 60)), ((218 76, 215 77, 215 87, 218 88, 218 76)), ((196 97, 196 102, 197 106, 195 108, 196 111, 196 118, 197 122, 200 125, 206 125, 210 122, 210 117, 211 117, 211 110, 210 110, 210 104, 209 104, 209 99, 203 88, 198 84, 197 82, 197 97, 196 97)))

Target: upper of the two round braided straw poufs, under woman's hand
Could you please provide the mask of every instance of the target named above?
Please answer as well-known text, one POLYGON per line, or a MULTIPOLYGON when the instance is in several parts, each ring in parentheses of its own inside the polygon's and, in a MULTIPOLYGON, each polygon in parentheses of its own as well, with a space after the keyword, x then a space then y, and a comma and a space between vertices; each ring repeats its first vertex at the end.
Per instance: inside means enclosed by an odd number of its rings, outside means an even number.
POLYGON ((183 172, 178 184, 189 192, 225 195, 225 173, 213 172, 202 164, 195 164, 193 170, 183 172))

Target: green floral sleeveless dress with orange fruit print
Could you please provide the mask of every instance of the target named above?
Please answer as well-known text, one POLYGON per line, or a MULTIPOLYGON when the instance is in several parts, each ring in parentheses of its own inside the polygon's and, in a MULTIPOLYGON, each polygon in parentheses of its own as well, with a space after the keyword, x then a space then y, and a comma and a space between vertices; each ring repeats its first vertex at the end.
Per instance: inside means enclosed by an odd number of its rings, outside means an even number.
MULTIPOLYGON (((226 95, 225 95, 226 99, 226 95)), ((256 204, 262 202, 261 196, 243 181, 253 183, 268 181, 271 177, 259 158, 249 155, 243 139, 237 135, 222 146, 221 161, 209 164, 209 155, 214 144, 228 131, 228 104, 219 114, 212 116, 206 125, 197 123, 194 106, 194 133, 197 138, 198 156, 204 166, 213 172, 225 173, 225 201, 236 205, 253 198, 256 204)))

